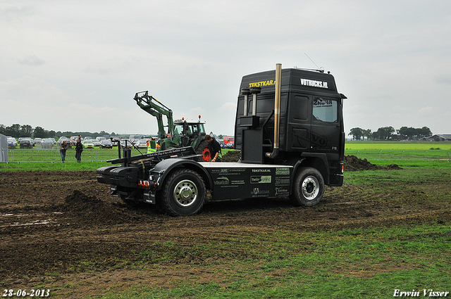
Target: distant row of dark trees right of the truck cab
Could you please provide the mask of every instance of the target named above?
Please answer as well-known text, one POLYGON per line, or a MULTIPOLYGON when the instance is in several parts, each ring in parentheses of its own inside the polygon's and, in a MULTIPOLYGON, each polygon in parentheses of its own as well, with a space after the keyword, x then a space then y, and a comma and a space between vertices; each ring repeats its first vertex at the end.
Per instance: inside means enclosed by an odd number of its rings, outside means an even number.
POLYGON ((432 136, 431 129, 428 127, 414 128, 401 127, 380 127, 376 132, 371 129, 361 129, 359 127, 352 128, 350 135, 354 140, 419 140, 423 137, 432 136))

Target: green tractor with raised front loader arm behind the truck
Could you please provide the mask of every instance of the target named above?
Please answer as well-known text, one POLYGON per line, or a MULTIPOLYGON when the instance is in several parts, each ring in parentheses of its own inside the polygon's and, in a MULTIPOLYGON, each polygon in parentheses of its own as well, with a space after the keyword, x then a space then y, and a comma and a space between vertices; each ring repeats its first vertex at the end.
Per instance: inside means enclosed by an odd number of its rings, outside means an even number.
POLYGON ((159 141, 150 141, 152 148, 155 148, 156 151, 164 151, 169 148, 192 146, 196 153, 202 154, 199 161, 210 160, 208 144, 204 141, 205 122, 200 121, 200 115, 199 120, 194 122, 187 122, 183 118, 173 120, 172 110, 153 96, 149 96, 149 91, 137 92, 134 99, 142 110, 156 117, 159 141), (163 117, 166 117, 167 126, 164 125, 163 117))

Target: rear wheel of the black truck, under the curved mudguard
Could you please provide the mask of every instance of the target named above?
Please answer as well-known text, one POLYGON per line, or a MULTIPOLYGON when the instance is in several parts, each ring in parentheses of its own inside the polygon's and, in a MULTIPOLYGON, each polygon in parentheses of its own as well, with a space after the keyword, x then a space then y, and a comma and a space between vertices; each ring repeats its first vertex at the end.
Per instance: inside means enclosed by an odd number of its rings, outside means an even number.
POLYGON ((157 194, 157 203, 171 216, 193 215, 202 209, 205 201, 205 184, 194 170, 175 170, 165 179, 157 194))

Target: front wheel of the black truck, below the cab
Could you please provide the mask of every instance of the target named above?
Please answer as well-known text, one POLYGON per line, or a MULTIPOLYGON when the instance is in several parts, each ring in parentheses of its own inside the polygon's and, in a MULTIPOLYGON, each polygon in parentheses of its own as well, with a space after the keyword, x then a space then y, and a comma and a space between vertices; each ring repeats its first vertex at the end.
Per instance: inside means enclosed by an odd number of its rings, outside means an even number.
POLYGON ((293 182, 290 200, 293 205, 311 207, 317 205, 324 195, 324 179, 315 168, 301 167, 293 182))

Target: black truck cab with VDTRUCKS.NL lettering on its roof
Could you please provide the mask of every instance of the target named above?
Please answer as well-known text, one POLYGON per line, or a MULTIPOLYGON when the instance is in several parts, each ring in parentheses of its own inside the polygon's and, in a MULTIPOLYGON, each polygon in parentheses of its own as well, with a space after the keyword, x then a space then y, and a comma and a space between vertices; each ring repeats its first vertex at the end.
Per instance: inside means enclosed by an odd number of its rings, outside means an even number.
POLYGON ((314 70, 283 69, 280 106, 275 107, 274 71, 242 78, 235 117, 235 148, 242 163, 313 166, 325 184, 342 185, 345 129, 343 99, 333 75, 314 70), (275 110, 279 110, 275 126, 275 110), (278 154, 273 151, 278 131, 278 154))

